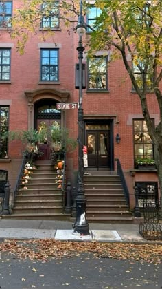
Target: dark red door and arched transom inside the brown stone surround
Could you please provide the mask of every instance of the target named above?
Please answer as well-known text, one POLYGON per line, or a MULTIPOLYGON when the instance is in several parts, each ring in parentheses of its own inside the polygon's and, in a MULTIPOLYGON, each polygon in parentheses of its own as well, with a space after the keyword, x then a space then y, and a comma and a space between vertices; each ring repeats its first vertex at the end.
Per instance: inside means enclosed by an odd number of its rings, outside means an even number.
MULTIPOLYGON (((56 109, 56 100, 45 98, 38 100, 34 105, 34 128, 38 131, 50 131, 51 127, 61 125, 61 111, 56 109)), ((49 160, 51 151, 51 138, 47 133, 39 143, 39 149, 43 153, 39 160, 49 160)))

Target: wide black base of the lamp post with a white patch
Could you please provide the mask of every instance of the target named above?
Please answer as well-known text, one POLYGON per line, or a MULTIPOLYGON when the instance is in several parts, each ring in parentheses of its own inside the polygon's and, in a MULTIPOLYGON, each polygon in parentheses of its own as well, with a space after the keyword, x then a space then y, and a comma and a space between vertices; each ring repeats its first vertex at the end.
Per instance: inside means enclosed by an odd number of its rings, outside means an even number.
POLYGON ((89 235, 89 224, 86 221, 86 197, 83 190, 83 184, 80 182, 76 197, 76 222, 73 225, 73 232, 80 233, 80 235, 89 235))

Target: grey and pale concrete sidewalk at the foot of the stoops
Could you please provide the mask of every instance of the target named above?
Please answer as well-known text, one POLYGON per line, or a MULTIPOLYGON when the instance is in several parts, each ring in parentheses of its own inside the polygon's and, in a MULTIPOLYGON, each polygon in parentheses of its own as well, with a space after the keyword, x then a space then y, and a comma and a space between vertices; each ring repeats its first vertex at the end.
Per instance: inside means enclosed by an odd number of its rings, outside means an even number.
POLYGON ((73 233, 72 222, 0 219, 0 239, 45 239, 100 242, 148 242, 139 234, 139 224, 89 223, 90 235, 73 233))

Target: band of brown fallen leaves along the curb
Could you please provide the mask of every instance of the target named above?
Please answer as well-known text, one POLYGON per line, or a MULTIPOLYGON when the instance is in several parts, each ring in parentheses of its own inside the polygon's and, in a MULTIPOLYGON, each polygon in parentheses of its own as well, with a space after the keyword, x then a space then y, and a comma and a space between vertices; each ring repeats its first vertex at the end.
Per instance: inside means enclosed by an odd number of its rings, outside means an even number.
MULTIPOLYGON (((0 244, 0 254, 10 253, 20 258, 48 261, 49 258, 71 258, 80 253, 93 253, 94 257, 113 258, 119 260, 146 261, 161 264, 161 244, 124 244, 100 242, 62 242, 55 239, 38 240, 5 240, 0 244)), ((35 268, 32 268, 36 272, 35 268)))

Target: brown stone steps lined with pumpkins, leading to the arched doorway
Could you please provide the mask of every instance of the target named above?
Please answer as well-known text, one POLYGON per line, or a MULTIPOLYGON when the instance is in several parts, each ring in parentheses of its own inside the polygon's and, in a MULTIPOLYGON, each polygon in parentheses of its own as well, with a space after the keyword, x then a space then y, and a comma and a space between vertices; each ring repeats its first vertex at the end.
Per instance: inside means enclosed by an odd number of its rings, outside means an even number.
POLYGON ((62 213, 62 189, 56 184, 56 169, 49 162, 37 161, 27 189, 20 189, 14 202, 12 218, 68 220, 62 213))

